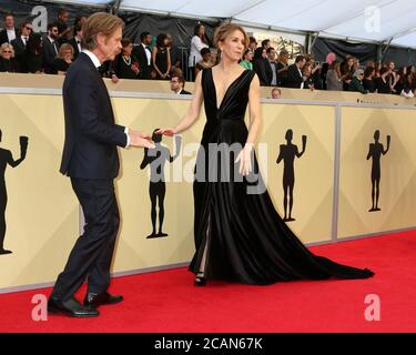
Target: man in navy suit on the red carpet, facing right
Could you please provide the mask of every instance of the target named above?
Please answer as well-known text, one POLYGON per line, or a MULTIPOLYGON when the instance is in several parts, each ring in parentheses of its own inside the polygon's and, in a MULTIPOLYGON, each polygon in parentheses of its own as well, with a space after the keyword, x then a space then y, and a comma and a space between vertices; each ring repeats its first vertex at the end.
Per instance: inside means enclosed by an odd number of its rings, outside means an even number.
POLYGON ((84 24, 83 52, 63 83, 65 142, 60 172, 71 178, 81 204, 84 233, 78 239, 48 302, 50 313, 74 317, 98 316, 98 306, 123 297, 108 293, 110 265, 119 230, 113 179, 119 174, 116 146, 154 148, 149 135, 114 123, 113 110, 98 68, 121 51, 123 21, 97 12, 84 24), (81 305, 74 293, 88 278, 81 305))

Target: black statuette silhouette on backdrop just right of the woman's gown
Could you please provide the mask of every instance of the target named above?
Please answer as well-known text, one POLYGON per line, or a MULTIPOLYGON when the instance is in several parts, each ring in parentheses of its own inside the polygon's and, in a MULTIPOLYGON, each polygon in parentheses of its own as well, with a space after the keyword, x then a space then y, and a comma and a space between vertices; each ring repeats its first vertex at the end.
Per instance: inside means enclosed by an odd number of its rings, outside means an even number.
POLYGON ((305 153, 307 136, 302 135, 302 152, 301 153, 297 150, 297 145, 292 144, 292 140, 293 140, 292 130, 287 130, 285 140, 287 141, 287 144, 281 144, 281 152, 277 156, 276 163, 278 164, 282 160, 284 162, 283 205, 284 205, 285 216, 283 221, 293 222, 295 221, 295 219, 292 217, 293 187, 295 186, 294 160, 295 160, 295 156, 301 158, 303 153, 305 153), (288 201, 287 201, 287 194, 288 194, 288 201), (288 216, 287 216, 287 206, 288 206, 288 216))

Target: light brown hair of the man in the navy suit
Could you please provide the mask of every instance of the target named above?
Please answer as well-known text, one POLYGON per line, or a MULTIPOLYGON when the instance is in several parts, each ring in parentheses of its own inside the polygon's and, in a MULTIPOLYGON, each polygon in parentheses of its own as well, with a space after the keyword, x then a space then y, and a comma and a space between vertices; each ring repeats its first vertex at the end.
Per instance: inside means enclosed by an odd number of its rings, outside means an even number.
POLYGON ((124 29, 124 22, 116 16, 106 12, 91 14, 82 26, 82 48, 88 50, 95 49, 99 33, 110 37, 119 28, 124 29))

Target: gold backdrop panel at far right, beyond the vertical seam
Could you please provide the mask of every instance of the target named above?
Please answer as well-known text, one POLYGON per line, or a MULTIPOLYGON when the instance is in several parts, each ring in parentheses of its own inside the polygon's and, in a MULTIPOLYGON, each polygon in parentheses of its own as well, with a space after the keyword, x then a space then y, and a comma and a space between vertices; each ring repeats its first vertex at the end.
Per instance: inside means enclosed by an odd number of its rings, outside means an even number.
POLYGON ((415 131, 416 110, 342 109, 338 237, 415 226, 415 131))

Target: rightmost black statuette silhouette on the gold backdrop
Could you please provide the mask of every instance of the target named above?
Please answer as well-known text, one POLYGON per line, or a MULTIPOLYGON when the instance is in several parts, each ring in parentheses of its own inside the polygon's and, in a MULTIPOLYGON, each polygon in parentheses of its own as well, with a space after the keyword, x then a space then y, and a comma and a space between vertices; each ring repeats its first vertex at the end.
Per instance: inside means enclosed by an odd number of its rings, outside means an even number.
POLYGON ((378 197, 379 197, 379 181, 382 179, 382 168, 381 168, 381 158, 382 154, 386 155, 390 148, 390 135, 387 135, 387 149, 384 150, 384 146, 379 141, 379 131, 374 132, 374 143, 369 143, 369 150, 367 154, 367 160, 373 158, 372 165, 372 201, 373 206, 368 212, 378 212, 382 211, 378 207, 378 197))

